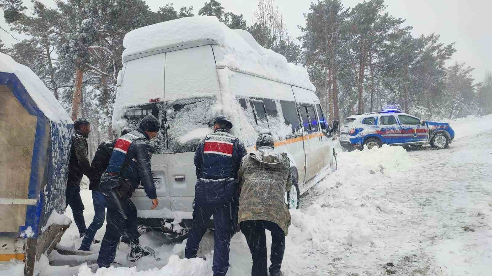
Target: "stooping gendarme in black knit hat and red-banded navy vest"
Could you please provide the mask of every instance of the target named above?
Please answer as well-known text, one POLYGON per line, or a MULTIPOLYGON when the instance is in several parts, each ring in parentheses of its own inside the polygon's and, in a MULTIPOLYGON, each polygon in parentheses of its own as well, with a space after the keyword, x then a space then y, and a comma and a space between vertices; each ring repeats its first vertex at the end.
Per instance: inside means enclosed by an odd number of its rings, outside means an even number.
POLYGON ((116 248, 125 231, 131 251, 128 260, 136 261, 148 255, 140 246, 137 230, 137 209, 130 197, 142 182, 145 193, 152 200, 152 209, 159 204, 151 171, 152 145, 160 124, 152 115, 142 119, 139 129, 116 140, 111 160, 101 176, 99 189, 104 193, 107 206, 106 233, 102 239, 97 264, 109 267, 116 256, 116 248))

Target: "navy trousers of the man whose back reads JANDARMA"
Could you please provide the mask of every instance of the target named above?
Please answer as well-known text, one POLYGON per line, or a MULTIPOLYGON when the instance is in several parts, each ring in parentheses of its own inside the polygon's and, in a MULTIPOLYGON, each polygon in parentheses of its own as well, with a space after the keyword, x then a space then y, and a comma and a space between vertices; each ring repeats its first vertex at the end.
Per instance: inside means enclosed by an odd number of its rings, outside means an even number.
POLYGON ((188 241, 184 249, 184 257, 194 258, 200 241, 207 231, 207 222, 214 215, 214 276, 223 276, 229 269, 229 244, 236 232, 236 204, 204 206, 195 205, 193 223, 188 233, 188 241))

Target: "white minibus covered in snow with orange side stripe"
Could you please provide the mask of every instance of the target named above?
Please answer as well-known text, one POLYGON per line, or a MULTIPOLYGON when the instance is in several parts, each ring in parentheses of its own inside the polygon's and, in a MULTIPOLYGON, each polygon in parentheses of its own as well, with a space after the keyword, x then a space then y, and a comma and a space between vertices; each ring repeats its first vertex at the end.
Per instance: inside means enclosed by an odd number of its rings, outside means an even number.
POLYGON ((286 195, 290 208, 299 208, 300 195, 336 168, 332 132, 306 69, 261 47, 247 31, 229 29, 215 17, 189 17, 135 29, 123 46, 116 135, 147 114, 162 122, 152 140, 159 206, 151 210, 143 189, 132 195, 142 230, 189 229, 194 150, 213 132, 218 114, 231 118, 231 133, 249 151, 259 134, 270 133, 276 150, 288 154, 295 179, 286 195))

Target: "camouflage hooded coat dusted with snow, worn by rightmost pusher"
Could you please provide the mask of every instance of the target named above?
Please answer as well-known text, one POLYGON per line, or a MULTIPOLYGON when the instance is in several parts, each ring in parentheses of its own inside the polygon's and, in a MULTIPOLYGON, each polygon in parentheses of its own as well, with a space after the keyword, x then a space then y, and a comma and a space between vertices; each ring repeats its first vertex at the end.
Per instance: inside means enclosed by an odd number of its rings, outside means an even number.
POLYGON ((238 177, 241 183, 238 223, 272 221, 287 235, 290 213, 284 195, 292 186, 287 155, 262 146, 243 158, 238 177))

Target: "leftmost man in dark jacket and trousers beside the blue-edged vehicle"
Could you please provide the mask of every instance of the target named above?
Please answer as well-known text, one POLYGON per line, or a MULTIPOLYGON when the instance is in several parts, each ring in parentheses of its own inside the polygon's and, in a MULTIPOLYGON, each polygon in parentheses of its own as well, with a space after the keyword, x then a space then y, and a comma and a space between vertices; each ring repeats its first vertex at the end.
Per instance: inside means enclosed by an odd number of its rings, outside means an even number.
POLYGON ((85 174, 91 173, 89 163, 87 138, 91 132, 88 120, 79 118, 73 122, 74 132, 70 144, 70 160, 68 162, 68 181, 66 184, 66 204, 70 206, 73 220, 79 229, 79 235, 84 236, 87 228, 84 221, 84 203, 80 197, 80 181, 85 174))

